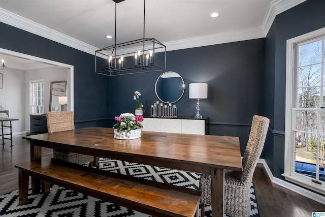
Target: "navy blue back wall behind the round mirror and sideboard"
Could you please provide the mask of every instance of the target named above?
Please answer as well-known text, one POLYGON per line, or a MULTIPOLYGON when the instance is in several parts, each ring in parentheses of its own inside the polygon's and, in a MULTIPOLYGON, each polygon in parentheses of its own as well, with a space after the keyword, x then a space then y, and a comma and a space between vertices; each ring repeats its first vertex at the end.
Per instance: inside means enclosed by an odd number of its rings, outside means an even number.
MULTIPOLYGON (((239 136, 242 151, 252 116, 264 114, 264 69, 265 39, 167 52, 167 71, 179 73, 185 82, 184 96, 176 103, 178 116, 196 114, 196 100, 188 98, 189 83, 208 83, 208 99, 201 100, 200 113, 210 117, 210 134, 239 136)), ((134 112, 135 90, 142 94, 144 115, 150 115, 161 73, 108 78, 108 117, 134 112)))

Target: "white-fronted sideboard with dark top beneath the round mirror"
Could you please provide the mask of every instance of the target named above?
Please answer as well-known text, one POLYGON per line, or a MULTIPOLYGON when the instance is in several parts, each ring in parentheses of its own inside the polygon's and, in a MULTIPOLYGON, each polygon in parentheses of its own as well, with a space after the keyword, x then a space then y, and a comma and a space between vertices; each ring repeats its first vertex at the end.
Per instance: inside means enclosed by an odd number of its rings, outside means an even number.
POLYGON ((202 119, 194 117, 159 118, 144 117, 143 131, 183 134, 209 134, 209 117, 202 119))

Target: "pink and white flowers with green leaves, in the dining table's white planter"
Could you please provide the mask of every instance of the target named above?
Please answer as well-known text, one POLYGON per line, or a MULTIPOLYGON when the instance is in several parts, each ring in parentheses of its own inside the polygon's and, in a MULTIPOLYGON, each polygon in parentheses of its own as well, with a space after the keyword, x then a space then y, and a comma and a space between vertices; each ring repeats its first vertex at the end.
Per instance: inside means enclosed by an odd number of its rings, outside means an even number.
POLYGON ((122 113, 120 116, 115 117, 117 123, 113 126, 119 132, 130 132, 132 130, 137 130, 143 128, 141 122, 143 117, 141 115, 135 116, 132 113, 122 113))

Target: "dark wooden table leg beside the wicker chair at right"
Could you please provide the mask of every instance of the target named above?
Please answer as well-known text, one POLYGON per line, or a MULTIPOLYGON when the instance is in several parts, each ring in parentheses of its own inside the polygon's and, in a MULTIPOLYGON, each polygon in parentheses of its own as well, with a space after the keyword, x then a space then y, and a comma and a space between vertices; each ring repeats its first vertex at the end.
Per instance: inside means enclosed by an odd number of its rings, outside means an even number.
POLYGON ((212 216, 223 216, 224 172, 222 168, 211 168, 211 204, 212 216))

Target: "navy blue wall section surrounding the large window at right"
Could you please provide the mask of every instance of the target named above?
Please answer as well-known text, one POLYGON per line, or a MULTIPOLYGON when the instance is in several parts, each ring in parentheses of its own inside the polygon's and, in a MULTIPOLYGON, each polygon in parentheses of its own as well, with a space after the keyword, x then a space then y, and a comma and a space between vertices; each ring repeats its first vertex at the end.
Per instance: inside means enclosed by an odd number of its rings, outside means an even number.
POLYGON ((266 106, 271 118, 265 159, 275 177, 284 179, 286 40, 325 27, 325 1, 308 0, 276 16, 266 37, 266 106))

